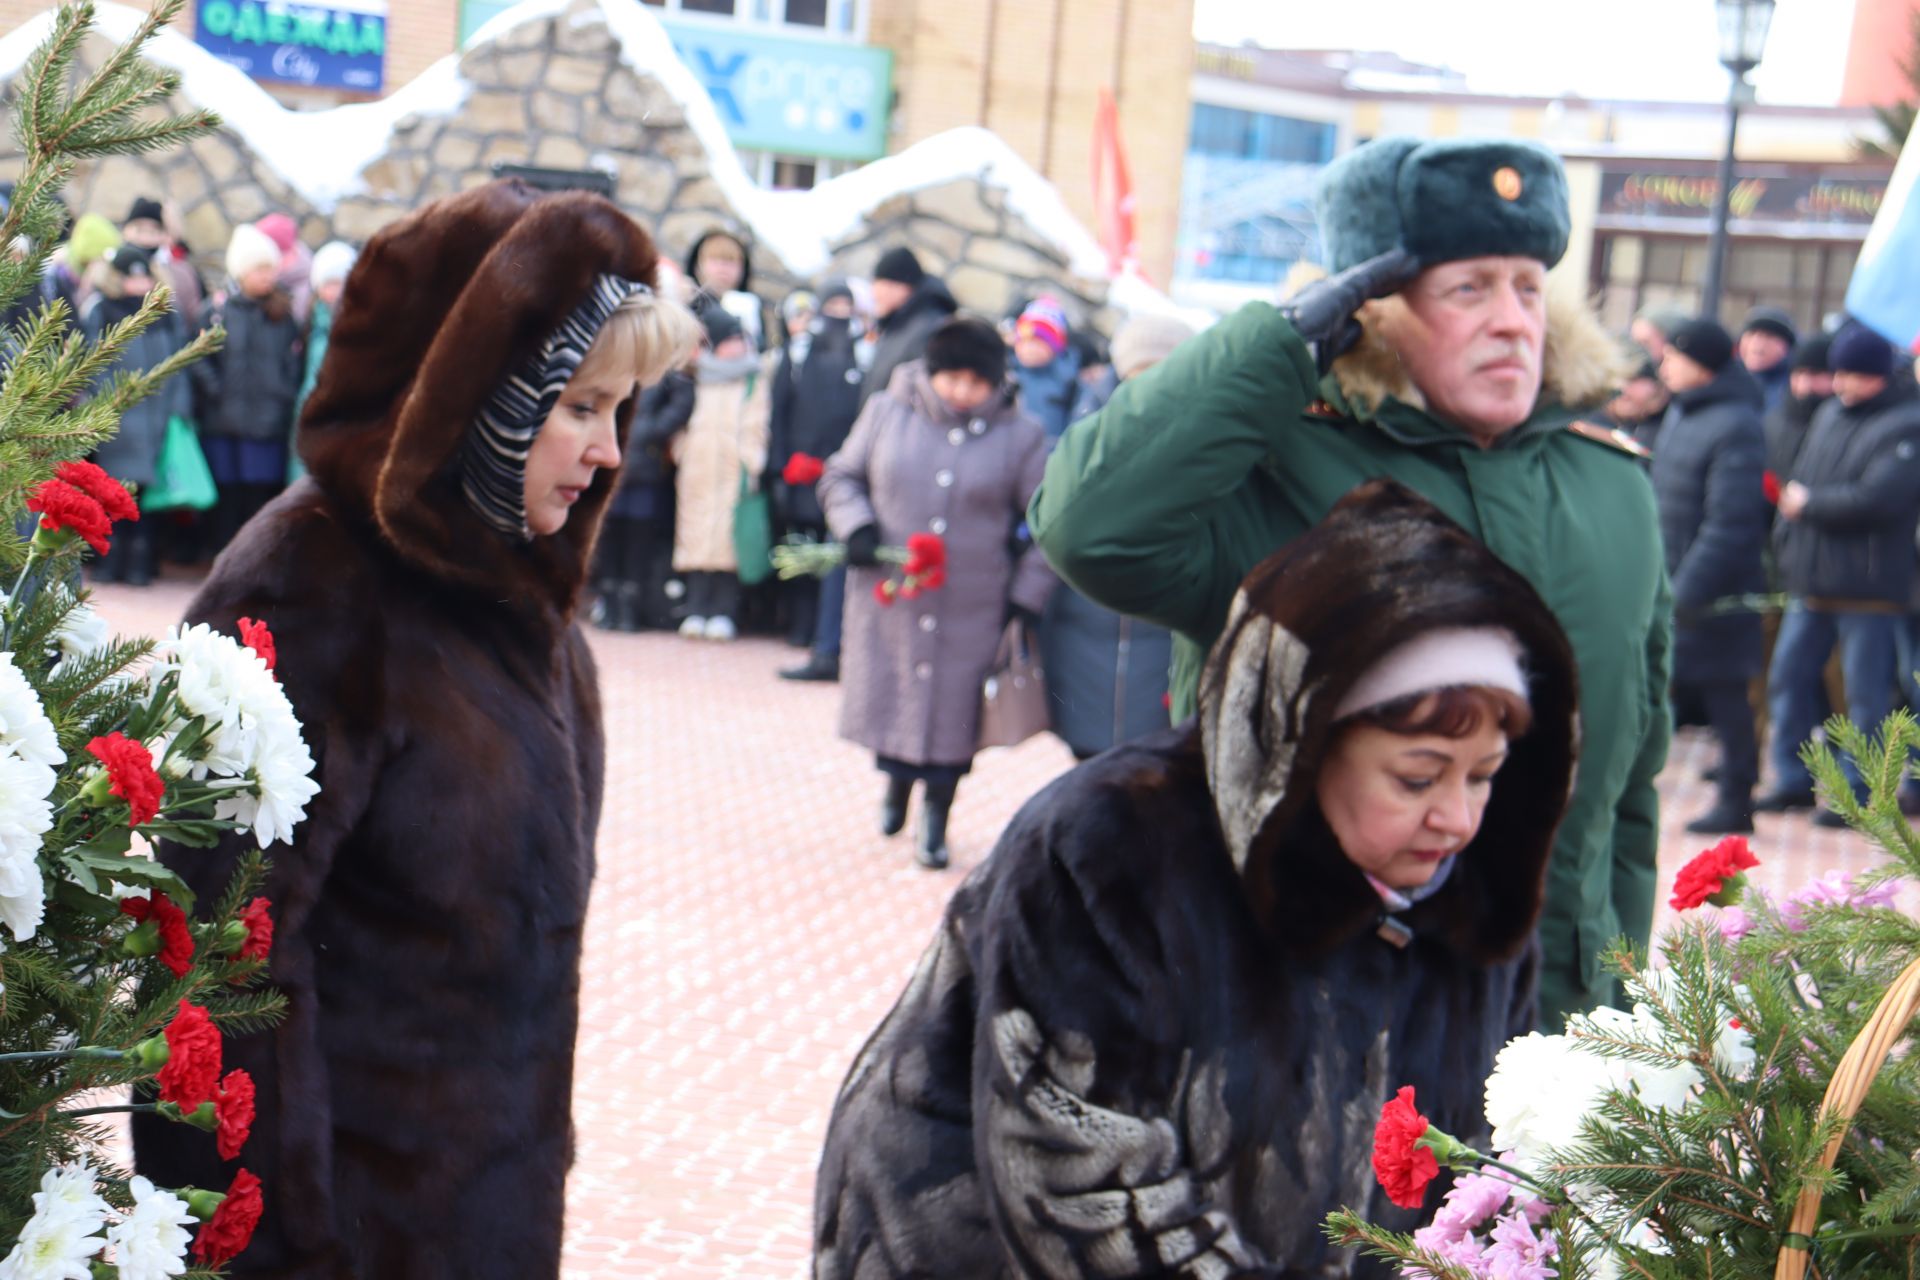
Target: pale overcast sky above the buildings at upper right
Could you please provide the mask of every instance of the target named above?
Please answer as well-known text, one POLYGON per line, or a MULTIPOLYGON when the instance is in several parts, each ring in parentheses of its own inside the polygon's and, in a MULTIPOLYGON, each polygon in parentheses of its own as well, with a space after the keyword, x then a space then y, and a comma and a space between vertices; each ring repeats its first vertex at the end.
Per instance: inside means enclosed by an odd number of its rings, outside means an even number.
MULTIPOLYGON (((1851 0, 1778 0, 1763 102, 1832 104, 1851 0)), ((1476 90, 1718 100, 1713 0, 1194 0, 1194 35, 1271 48, 1384 48, 1453 67, 1476 90)))

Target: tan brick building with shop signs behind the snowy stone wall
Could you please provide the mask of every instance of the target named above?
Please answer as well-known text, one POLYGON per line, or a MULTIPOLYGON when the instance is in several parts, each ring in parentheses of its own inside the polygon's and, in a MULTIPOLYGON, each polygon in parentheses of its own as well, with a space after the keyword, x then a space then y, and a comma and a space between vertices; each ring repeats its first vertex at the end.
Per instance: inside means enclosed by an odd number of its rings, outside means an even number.
MULTIPOLYGON (((641 0, 628 0, 639 4, 641 0)), ((1140 265, 1173 269, 1192 0, 643 0, 714 96, 749 173, 814 186, 960 125, 998 132, 1096 225, 1091 138, 1119 106, 1140 265)), ((365 102, 511 0, 194 0, 182 33, 292 107, 365 102)), ((0 33, 46 0, 0 0, 0 33)))

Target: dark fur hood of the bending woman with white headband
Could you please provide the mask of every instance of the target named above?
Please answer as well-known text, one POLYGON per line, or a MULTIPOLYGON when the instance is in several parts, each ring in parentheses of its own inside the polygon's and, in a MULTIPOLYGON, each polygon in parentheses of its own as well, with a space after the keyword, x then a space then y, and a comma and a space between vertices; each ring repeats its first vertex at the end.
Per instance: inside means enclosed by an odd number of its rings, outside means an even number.
POLYGON ((1572 651, 1540 595, 1425 499, 1375 480, 1254 568, 1233 601, 1200 679, 1208 789, 1256 915, 1302 950, 1344 942, 1380 910, 1313 804, 1334 706, 1400 643, 1457 626, 1519 637, 1534 723, 1448 883, 1405 919, 1476 960, 1505 960, 1540 913, 1578 754, 1572 651), (1283 604, 1267 616, 1250 599, 1283 604))

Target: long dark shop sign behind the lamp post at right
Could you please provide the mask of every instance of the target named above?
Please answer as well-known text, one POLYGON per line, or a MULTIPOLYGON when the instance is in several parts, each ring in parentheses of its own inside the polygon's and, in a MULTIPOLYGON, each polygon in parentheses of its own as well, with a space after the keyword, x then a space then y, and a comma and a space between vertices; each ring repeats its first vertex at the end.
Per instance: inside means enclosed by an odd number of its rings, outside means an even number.
MULTIPOLYGON (((1599 213, 1607 219, 1711 219, 1720 180, 1713 173, 1607 169, 1599 213)), ((1887 194, 1885 178, 1736 175, 1728 215, 1745 223, 1839 223, 1866 226, 1887 194)))

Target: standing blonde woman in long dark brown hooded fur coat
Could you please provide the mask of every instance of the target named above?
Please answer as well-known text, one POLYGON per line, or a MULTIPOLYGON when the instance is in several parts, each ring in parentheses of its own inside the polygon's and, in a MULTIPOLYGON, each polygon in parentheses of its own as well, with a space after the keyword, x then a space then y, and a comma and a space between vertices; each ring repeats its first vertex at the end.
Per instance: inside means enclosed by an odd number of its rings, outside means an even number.
MULTIPOLYGON (((188 610, 271 624, 323 787, 269 881, 288 1017, 227 1046, 267 1194, 234 1274, 559 1274, 605 758, 574 604, 636 386, 697 332, 655 261, 612 203, 518 182, 382 230, 301 418, 307 478, 188 610)), ((205 894, 221 852, 165 858, 205 894)), ((167 1186, 232 1173, 167 1123, 134 1153, 167 1186)))

